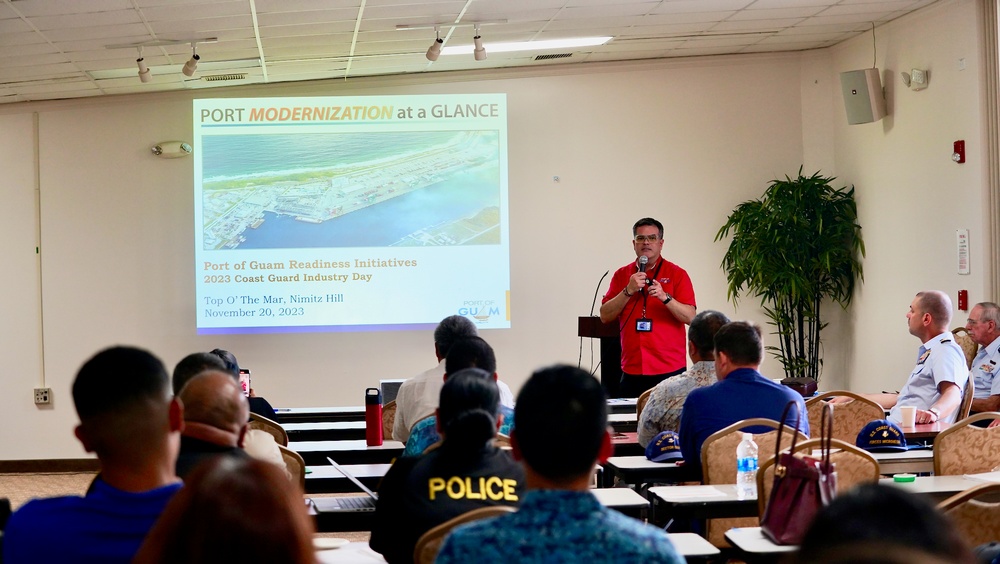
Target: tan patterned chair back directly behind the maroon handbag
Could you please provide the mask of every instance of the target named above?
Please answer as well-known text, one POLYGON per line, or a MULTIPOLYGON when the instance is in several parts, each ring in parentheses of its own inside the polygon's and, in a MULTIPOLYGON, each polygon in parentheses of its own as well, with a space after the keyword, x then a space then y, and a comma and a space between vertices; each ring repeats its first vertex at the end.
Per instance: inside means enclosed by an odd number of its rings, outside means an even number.
MULTIPOLYGON (((805 453, 809 456, 811 451, 818 450, 820 446, 820 439, 809 439, 796 444, 795 452, 805 453)), ((867 451, 854 446, 853 441, 831 439, 830 449, 832 451, 830 462, 837 469, 837 493, 847 491, 865 482, 878 482, 878 461, 867 451)), ((819 455, 817 454, 814 458, 819 458, 819 455)), ((764 506, 767 505, 767 500, 771 497, 771 487, 774 485, 774 465, 777 460, 776 456, 771 457, 757 468, 757 509, 760 515, 764 514, 764 506)))

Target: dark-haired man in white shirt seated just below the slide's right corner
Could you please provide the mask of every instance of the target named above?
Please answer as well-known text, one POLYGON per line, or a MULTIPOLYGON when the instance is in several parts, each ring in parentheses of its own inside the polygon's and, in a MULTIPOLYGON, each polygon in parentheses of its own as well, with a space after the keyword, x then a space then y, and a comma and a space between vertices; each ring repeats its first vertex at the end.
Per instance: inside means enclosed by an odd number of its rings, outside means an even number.
MULTIPOLYGON (((444 385, 445 361, 451 346, 460 339, 477 337, 476 325, 461 315, 450 315, 438 323, 434 329, 434 356, 438 364, 405 382, 396 393, 396 418, 392 424, 392 438, 406 442, 410 429, 417 421, 433 415, 437 409, 438 396, 444 385)), ((500 387, 500 404, 514 407, 514 395, 507 384, 497 381, 500 387)))

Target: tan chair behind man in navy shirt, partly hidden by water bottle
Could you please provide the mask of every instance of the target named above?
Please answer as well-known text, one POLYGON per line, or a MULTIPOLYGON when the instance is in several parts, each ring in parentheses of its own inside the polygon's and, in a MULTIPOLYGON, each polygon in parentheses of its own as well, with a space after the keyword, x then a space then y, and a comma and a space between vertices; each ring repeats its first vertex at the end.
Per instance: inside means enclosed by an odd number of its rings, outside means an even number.
MULTIPOLYGON (((780 423, 773 419, 757 417, 744 419, 712 433, 701 445, 702 483, 735 484, 736 483, 736 447, 743 440, 743 429, 747 427, 770 427, 771 431, 756 433, 753 440, 757 443, 757 460, 767 460, 774 456, 775 440, 778 437, 780 423)), ((792 427, 785 427, 781 444, 791 446, 793 433, 798 433, 799 440, 806 436, 792 427)), ((721 548, 729 546, 725 533, 734 527, 756 527, 759 521, 756 517, 741 517, 734 519, 710 519, 706 527, 705 538, 708 542, 721 548)))

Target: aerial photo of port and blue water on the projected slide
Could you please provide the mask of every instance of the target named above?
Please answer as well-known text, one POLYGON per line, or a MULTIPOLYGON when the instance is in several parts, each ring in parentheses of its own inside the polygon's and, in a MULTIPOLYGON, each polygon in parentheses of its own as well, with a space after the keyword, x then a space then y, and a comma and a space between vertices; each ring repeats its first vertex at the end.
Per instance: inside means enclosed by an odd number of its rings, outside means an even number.
POLYGON ((496 245, 497 131, 206 135, 203 248, 496 245))

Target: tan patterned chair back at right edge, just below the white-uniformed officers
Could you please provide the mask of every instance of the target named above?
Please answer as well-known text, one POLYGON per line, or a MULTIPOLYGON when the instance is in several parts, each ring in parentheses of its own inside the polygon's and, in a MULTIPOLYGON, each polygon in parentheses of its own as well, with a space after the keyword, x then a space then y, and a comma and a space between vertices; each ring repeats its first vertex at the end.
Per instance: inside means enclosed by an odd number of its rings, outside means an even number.
POLYGON ((934 474, 977 474, 989 472, 1000 464, 1000 427, 985 429, 972 425, 991 419, 1000 419, 1000 413, 977 413, 934 437, 934 474))

